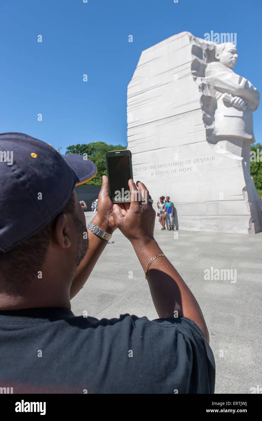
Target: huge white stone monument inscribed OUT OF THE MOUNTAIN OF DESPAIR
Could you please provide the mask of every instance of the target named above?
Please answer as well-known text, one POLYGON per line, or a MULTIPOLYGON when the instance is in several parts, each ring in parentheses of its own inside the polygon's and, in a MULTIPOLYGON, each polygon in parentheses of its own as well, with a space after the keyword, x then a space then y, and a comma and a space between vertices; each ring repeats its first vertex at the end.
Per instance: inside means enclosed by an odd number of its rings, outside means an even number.
POLYGON ((250 176, 259 93, 232 70, 237 58, 232 43, 182 32, 143 51, 128 85, 134 178, 155 204, 170 197, 182 230, 262 231, 250 176))

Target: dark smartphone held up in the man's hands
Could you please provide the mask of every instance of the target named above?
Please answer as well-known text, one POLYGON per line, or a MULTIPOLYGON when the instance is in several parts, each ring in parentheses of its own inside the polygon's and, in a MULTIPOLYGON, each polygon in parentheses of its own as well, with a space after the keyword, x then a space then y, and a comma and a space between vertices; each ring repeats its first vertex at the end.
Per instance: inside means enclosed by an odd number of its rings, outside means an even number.
POLYGON ((128 180, 133 178, 131 152, 128 149, 107 152, 106 167, 112 202, 130 202, 128 180))

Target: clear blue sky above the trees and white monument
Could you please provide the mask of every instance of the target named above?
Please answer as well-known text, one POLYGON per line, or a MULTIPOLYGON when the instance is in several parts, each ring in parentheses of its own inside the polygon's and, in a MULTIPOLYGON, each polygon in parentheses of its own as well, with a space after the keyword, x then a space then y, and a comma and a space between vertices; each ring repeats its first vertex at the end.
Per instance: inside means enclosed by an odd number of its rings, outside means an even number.
MULTIPOLYGON (((92 141, 127 145, 127 85, 140 54, 179 32, 236 32, 234 70, 262 94, 261 0, 1 0, 0 16, 0 132, 62 153, 92 141)), ((253 117, 262 143, 262 104, 253 117)))

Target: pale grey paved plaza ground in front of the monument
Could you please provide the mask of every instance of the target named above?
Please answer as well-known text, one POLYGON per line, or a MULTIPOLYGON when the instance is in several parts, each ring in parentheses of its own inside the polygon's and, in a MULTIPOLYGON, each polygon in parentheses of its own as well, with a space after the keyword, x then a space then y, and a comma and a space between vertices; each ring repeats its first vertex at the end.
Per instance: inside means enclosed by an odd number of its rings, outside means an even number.
MULTIPOLYGON (((88 224, 93 213, 85 216, 88 224)), ((196 297, 209 329, 215 393, 249 394, 252 387, 262 387, 262 232, 160 231, 160 227, 156 218, 154 237, 196 297), (236 269, 232 271, 236 282, 204 280, 204 270, 211 267, 236 269)), ((143 269, 118 229, 71 305, 77 316, 87 310, 98 319, 125 313, 158 318, 143 269)))

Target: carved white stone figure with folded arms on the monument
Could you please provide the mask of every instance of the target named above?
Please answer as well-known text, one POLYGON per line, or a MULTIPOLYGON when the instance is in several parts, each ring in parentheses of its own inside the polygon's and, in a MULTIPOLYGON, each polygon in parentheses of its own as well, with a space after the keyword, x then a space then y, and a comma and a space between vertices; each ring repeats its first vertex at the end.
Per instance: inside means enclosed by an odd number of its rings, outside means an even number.
POLYGON ((216 61, 206 66, 206 81, 217 100, 214 136, 209 141, 219 143, 230 157, 242 156, 250 165, 250 144, 255 141, 252 112, 259 105, 259 92, 249 80, 233 71, 237 59, 238 52, 233 43, 217 44, 216 61))

